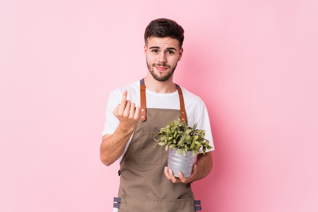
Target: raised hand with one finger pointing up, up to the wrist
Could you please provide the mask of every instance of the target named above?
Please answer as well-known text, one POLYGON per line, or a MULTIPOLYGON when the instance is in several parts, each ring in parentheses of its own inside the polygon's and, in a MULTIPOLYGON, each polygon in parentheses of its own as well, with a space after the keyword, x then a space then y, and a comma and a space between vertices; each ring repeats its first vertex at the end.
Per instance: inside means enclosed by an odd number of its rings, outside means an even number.
POLYGON ((140 107, 127 100, 127 90, 124 90, 121 102, 115 107, 113 114, 118 118, 120 127, 134 130, 139 122, 140 107))

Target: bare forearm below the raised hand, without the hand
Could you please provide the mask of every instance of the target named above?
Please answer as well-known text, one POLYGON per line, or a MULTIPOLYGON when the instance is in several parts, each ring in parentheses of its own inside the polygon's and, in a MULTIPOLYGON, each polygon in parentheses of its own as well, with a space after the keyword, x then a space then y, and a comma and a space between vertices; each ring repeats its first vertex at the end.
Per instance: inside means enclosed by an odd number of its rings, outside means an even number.
POLYGON ((126 129, 119 126, 114 134, 103 136, 100 158, 106 166, 114 163, 122 155, 133 132, 134 129, 126 129))

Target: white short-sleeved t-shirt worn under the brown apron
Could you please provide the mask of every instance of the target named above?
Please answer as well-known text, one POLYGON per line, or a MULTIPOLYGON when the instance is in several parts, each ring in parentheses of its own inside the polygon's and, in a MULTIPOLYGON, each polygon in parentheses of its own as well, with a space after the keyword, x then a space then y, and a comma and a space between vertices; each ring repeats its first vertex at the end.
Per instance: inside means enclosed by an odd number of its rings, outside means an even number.
MULTIPOLYGON (((207 139, 209 141, 209 145, 213 147, 211 150, 214 150, 209 115, 204 102, 200 97, 189 92, 184 87, 181 87, 181 89, 184 99, 185 112, 187 115, 187 125, 189 127, 193 127, 196 123, 198 123, 197 129, 205 130, 204 138, 207 139)), ((134 102, 136 106, 140 107, 140 81, 135 81, 121 88, 113 90, 110 93, 107 103, 106 122, 104 125, 103 135, 113 134, 119 125, 119 120, 113 114, 113 110, 118 104, 120 104, 124 90, 128 91, 127 100, 134 102)), ((179 110, 180 100, 178 90, 169 94, 159 94, 146 88, 146 107, 179 110)), ((169 123, 167 123, 167 125, 169 125, 169 123)), ((131 139, 132 137, 129 139, 123 154, 118 159, 119 162, 125 154, 131 139)), ((207 152, 208 151, 209 150, 207 150, 207 152)), ((202 149, 200 150, 200 153, 203 153, 202 149)))

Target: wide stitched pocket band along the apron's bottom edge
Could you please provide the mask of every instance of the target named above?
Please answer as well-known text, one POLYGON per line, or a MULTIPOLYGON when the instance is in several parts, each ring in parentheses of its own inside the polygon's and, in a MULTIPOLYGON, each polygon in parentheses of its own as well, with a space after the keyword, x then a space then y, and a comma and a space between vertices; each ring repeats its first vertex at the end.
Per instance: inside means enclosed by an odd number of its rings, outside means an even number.
POLYGON ((195 212, 194 198, 149 199, 121 196, 118 212, 195 212))

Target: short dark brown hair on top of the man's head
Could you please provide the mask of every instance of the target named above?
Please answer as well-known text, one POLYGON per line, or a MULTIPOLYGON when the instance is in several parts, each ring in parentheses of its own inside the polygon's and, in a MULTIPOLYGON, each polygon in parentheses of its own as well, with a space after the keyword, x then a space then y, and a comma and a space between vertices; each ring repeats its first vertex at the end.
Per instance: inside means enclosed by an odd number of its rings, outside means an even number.
POLYGON ((151 36, 158 38, 175 38, 179 41, 179 48, 181 49, 184 39, 183 28, 175 21, 167 18, 159 18, 151 21, 145 30, 145 44, 151 36))

